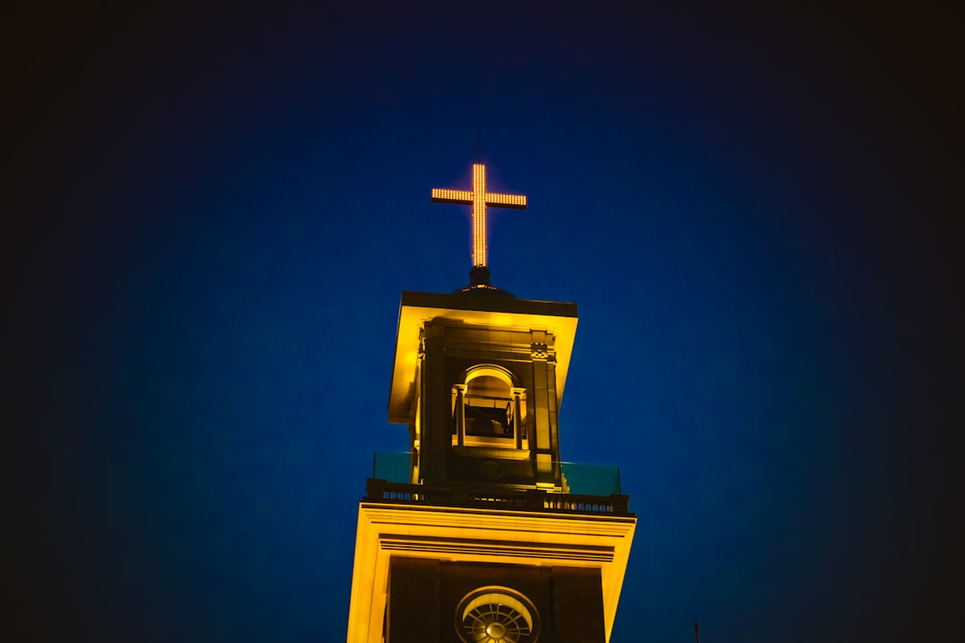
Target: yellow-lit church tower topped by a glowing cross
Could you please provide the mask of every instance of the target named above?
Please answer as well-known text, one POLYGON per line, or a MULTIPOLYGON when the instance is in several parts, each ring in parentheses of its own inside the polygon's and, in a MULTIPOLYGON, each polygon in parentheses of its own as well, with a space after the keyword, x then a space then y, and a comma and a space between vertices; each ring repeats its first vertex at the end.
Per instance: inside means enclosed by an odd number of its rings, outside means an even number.
POLYGON ((348 643, 609 641, 636 518, 619 469, 561 460, 576 304, 490 284, 487 205, 526 197, 432 190, 473 208, 470 284, 403 292, 389 421, 359 505, 348 643))

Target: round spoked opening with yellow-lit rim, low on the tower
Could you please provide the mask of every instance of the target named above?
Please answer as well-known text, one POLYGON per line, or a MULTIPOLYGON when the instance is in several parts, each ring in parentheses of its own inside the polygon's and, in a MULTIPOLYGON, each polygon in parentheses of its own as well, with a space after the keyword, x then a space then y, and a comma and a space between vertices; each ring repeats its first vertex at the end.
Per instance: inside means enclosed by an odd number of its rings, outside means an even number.
POLYGON ((480 587, 459 602, 455 630, 465 643, 535 643, 539 615, 529 599, 509 587, 480 587))

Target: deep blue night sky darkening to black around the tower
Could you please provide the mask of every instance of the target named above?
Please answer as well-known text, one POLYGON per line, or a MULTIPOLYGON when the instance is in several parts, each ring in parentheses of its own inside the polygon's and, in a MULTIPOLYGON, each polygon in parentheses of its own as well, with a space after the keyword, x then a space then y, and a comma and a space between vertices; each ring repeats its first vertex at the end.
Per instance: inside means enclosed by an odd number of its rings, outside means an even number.
POLYGON ((480 137, 494 283, 580 306, 564 457, 639 518, 613 640, 958 631, 959 36, 708 4, 14 13, 0 637, 344 640, 480 137))

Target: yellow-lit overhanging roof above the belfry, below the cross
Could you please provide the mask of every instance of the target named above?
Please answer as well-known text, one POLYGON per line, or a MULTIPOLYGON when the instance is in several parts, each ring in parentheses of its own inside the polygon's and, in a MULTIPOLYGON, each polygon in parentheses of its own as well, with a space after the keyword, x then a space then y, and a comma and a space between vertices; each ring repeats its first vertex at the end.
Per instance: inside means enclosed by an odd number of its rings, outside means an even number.
POLYGON ((396 361, 389 392, 389 421, 409 421, 419 332, 428 321, 446 319, 470 326, 514 331, 546 331, 554 336, 556 351, 556 392, 563 400, 569 358, 576 336, 576 304, 539 302, 510 297, 482 297, 473 293, 450 295, 403 292, 396 335, 396 361))

